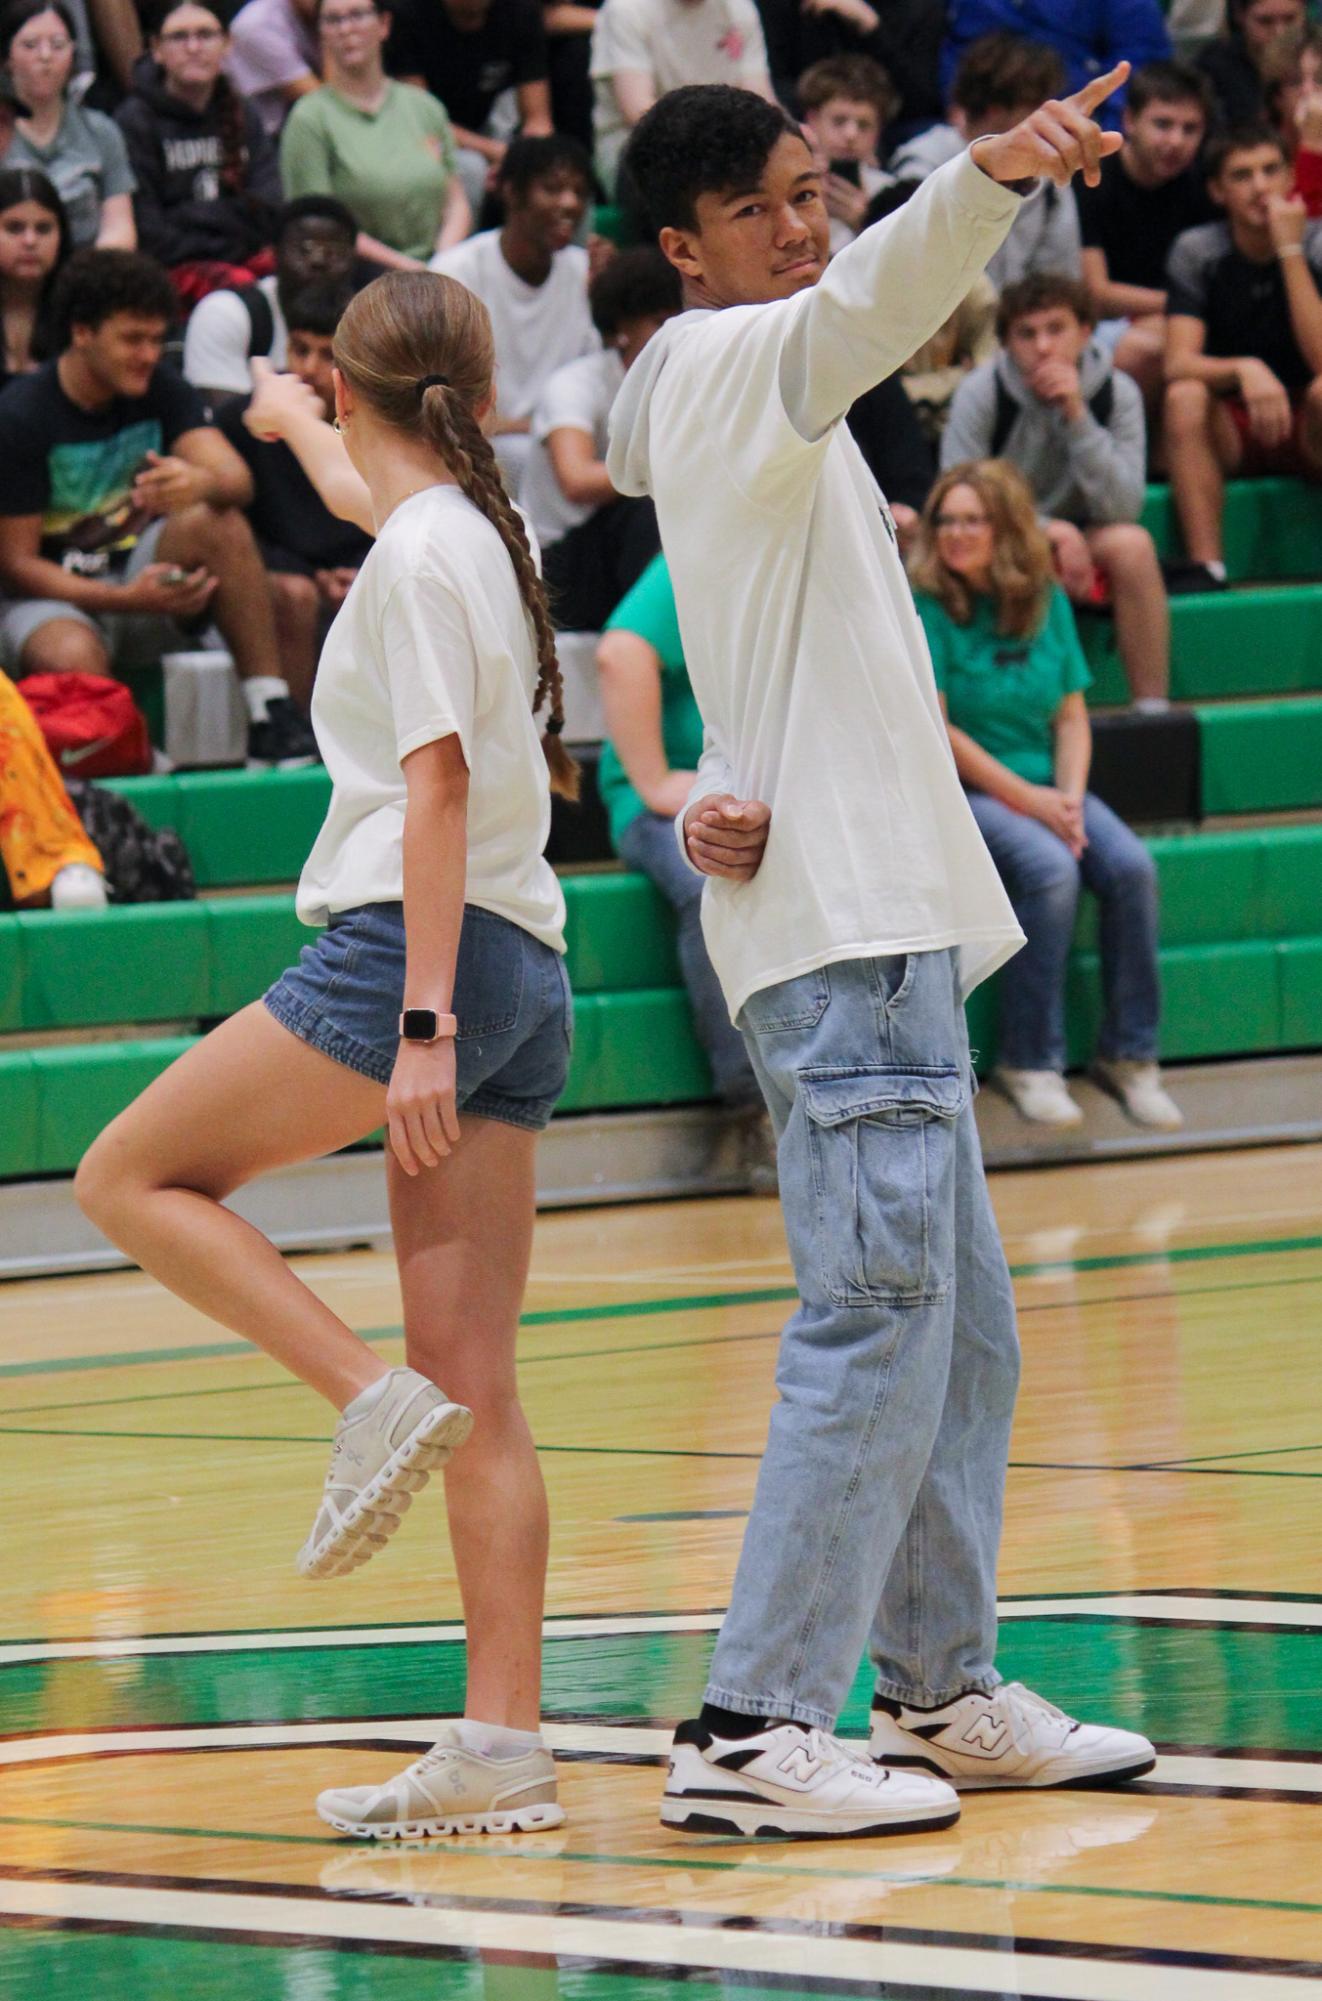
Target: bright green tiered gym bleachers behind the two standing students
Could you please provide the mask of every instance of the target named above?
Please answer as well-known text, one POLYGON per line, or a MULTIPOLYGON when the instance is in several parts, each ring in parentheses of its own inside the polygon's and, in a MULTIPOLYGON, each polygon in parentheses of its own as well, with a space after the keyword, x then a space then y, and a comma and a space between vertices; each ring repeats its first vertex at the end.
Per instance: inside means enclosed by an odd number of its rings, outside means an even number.
MULTIPOLYGON (((1146 524, 1178 552, 1166 488, 1146 524)), ((1198 828, 1158 832, 1162 1059, 1322 1045, 1322 492, 1232 484, 1234 590, 1172 604, 1172 694, 1202 734, 1198 828), (1236 824, 1238 822, 1238 824, 1236 824)), ((1096 704, 1124 700, 1110 626, 1086 622, 1096 704)), ((140 688, 148 716, 154 688, 140 688)), ((68 1175, 88 1141, 206 1025, 254 1000, 308 936, 292 882, 328 780, 300 772, 180 772, 110 780, 180 830, 196 902, 0 914, 0 1179, 68 1175)), ((616 868, 570 870, 576 1049, 562 1113, 702 1103, 710 1095, 658 892, 616 868)), ((1100 1009, 1086 900, 1070 968, 1070 1061, 1100 1009)), ((970 1005, 994 1059, 996 990, 970 1005)))

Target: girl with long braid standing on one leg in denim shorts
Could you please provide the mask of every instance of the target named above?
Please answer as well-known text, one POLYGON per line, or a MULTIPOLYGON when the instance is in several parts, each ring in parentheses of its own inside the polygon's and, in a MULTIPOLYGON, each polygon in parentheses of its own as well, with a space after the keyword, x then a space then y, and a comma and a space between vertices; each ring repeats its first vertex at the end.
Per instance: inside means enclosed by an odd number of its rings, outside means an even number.
MULTIPOLYGON (((546 1493, 514 1345, 534 1145, 570 1057, 544 846, 550 790, 576 774, 536 564, 482 430, 486 308, 452 278, 390 272, 348 306, 334 352, 338 436, 296 378, 266 374, 252 406, 376 536, 312 700, 332 798, 298 914, 324 928, 100 1135, 76 1191, 144 1271, 334 1405, 304 1577, 374 1557, 446 1467, 464 1717, 384 1785, 322 1793, 322 1819, 360 1837, 516 1833, 564 1817, 540 1739, 546 1493), (382 1125, 402 1367, 222 1207, 382 1125)), ((266 1567, 284 1511, 256 1515, 246 1485, 234 1511, 266 1567)))

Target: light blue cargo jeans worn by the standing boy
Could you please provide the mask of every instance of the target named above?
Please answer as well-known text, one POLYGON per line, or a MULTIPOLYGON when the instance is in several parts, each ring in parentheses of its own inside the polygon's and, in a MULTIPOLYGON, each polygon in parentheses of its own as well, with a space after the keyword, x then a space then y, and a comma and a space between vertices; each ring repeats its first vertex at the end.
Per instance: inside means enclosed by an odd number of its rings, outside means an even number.
POLYGON ((822 966, 740 1029, 800 1309, 706 1699, 834 1729, 864 1649, 882 1695, 990 1691, 1018 1335, 956 954, 822 966))

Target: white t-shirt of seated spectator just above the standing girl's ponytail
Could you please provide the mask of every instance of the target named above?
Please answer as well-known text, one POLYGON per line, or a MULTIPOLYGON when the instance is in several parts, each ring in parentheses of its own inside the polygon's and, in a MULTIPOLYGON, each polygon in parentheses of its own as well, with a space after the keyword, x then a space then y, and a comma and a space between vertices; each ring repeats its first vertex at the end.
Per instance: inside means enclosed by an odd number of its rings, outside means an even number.
POLYGON ((510 270, 500 230, 440 250, 432 270, 466 284, 492 316, 502 416, 532 416, 556 368, 602 344, 588 312, 588 252, 580 244, 556 250, 544 284, 526 284, 510 270))

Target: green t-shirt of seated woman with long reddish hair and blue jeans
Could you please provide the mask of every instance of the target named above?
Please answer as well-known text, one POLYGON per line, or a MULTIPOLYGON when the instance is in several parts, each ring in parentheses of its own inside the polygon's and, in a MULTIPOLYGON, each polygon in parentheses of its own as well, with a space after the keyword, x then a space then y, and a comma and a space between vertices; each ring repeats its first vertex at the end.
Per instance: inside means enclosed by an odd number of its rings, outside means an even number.
POLYGON ((1030 784, 1054 774, 1054 718, 1066 694, 1092 680, 1078 644, 1074 612, 1052 584, 1046 618, 1036 634, 1008 638, 996 630, 992 600, 976 598, 966 626, 938 598, 916 590, 914 602, 932 648, 936 686, 950 720, 1030 784))

